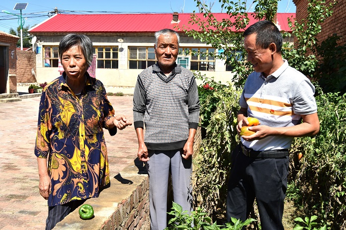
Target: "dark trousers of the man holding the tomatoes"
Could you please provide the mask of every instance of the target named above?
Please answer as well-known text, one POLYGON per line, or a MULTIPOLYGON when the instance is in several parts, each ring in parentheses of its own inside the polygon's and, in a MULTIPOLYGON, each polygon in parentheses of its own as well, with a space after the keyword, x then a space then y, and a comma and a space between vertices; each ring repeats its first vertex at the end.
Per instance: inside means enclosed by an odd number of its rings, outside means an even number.
POLYGON ((262 230, 284 230, 282 215, 287 190, 289 156, 255 159, 240 146, 232 152, 226 218, 245 221, 256 198, 262 230))

